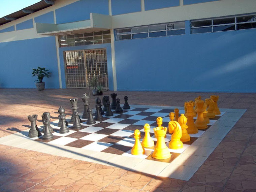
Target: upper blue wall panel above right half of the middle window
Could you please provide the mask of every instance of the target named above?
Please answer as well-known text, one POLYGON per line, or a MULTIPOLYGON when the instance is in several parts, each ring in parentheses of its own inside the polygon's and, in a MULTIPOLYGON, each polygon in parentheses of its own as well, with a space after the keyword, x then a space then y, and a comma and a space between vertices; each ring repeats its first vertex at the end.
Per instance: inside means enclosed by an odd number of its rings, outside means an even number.
POLYGON ((145 2, 145 11, 152 9, 162 9, 166 7, 175 7, 180 5, 180 0, 144 0, 145 2))

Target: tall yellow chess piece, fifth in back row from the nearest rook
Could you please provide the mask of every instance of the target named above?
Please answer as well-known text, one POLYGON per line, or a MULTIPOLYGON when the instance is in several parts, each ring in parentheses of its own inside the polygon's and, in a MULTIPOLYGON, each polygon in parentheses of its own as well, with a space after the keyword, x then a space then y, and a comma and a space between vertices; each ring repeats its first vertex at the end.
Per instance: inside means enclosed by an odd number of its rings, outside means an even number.
POLYGON ((203 105, 204 105, 204 101, 201 99, 198 99, 195 101, 196 103, 196 112, 197 112, 197 119, 195 122, 196 128, 197 129, 206 129, 208 126, 206 124, 206 122, 204 121, 203 118, 203 105))

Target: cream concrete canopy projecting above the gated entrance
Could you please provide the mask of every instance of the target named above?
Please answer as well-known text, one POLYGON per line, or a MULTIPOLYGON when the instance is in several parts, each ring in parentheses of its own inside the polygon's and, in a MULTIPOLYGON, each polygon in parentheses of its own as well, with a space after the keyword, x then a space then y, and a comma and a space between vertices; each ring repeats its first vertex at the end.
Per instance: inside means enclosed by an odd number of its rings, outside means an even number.
POLYGON ((37 35, 67 35, 111 29, 111 16, 90 13, 90 20, 63 24, 36 23, 37 35))

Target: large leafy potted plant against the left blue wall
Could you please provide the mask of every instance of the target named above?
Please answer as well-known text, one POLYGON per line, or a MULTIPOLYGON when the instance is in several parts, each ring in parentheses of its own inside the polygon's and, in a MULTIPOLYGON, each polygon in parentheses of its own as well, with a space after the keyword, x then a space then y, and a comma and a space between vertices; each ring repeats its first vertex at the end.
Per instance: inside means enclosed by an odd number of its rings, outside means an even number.
POLYGON ((45 69, 45 67, 41 68, 41 67, 38 67, 37 69, 32 69, 33 72, 32 72, 32 75, 33 77, 36 76, 36 78, 38 80, 36 80, 35 82, 36 83, 36 88, 38 89, 38 91, 42 91, 44 90, 44 86, 45 86, 45 82, 43 82, 43 77, 50 77, 49 74, 51 74, 51 72, 48 72, 49 69, 45 69))

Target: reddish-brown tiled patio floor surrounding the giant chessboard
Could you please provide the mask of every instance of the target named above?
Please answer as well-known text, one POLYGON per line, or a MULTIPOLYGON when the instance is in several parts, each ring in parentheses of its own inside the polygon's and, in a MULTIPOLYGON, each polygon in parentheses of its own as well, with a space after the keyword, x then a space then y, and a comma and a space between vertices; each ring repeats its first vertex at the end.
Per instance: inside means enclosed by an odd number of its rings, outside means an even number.
MULTIPOLYGON (((84 89, 0 89, 0 137, 29 127, 28 115, 51 112, 84 89)), ((87 90, 86 90, 87 91, 87 90)), ((104 92, 104 95, 113 93, 104 92)), ((117 92, 129 104, 183 106, 217 93, 117 92)), ((0 191, 256 191, 256 94, 218 93, 219 107, 247 109, 189 181, 154 177, 121 168, 0 145, 0 191)), ((96 96, 91 96, 94 108, 96 96)), ((39 118, 38 118, 39 119, 39 118)))

